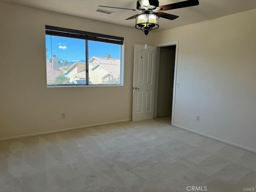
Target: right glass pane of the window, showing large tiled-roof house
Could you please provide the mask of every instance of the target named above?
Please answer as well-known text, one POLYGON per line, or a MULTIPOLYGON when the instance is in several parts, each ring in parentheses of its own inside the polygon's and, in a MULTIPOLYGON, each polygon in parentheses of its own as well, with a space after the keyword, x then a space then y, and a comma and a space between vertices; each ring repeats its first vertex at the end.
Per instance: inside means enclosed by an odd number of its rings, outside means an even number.
POLYGON ((89 84, 120 84, 121 45, 88 41, 89 84))

